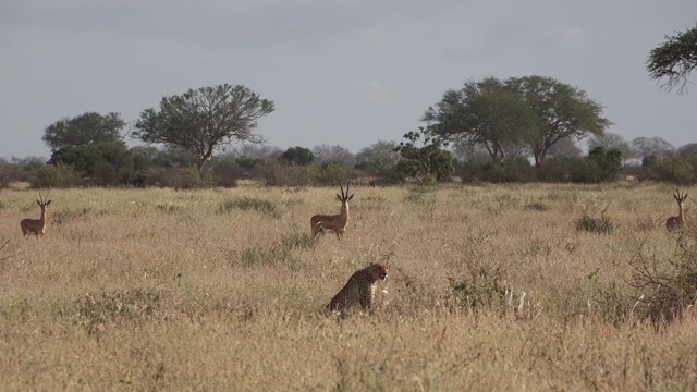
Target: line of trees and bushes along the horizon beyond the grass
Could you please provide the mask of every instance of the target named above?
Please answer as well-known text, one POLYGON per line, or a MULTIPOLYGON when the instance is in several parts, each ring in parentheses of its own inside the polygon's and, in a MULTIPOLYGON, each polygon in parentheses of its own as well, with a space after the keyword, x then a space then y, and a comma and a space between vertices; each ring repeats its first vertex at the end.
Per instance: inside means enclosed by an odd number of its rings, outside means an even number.
MULTIPOLYGON (((686 89, 697 68, 697 27, 667 37, 651 50, 647 70, 662 86, 686 89)), ((51 148, 41 158, 0 159, 0 188, 33 186, 235 186, 240 179, 266 185, 335 185, 338 175, 371 182, 697 183, 697 144, 675 149, 659 137, 631 144, 606 132, 603 107, 576 87, 547 76, 468 81, 449 89, 421 118, 425 126, 401 143, 377 142, 357 154, 334 145, 282 151, 254 131, 274 110, 244 86, 223 84, 162 97, 126 133, 145 146, 129 148, 119 113, 84 113, 48 125, 51 148), (583 156, 577 143, 587 140, 583 156), (236 144, 235 146, 232 146, 236 144), (157 146, 157 147, 156 147, 157 146)))

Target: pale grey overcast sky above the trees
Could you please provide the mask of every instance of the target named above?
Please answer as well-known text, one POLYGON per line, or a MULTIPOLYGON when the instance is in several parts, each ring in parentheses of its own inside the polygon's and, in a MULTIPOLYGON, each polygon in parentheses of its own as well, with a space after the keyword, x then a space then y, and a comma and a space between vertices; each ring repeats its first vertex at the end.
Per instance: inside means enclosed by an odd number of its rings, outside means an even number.
POLYGON ((678 147, 697 142, 697 86, 661 90, 646 59, 696 21, 695 0, 0 0, 0 157, 49 157, 63 117, 135 121, 222 83, 276 102, 269 145, 357 152, 449 88, 525 75, 586 90, 627 142, 678 147))

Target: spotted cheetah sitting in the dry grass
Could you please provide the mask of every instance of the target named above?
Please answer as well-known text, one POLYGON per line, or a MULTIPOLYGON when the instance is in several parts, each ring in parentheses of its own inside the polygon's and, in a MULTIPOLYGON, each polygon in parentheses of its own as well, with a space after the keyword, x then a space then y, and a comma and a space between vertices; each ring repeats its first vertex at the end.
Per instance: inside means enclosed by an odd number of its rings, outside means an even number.
POLYGON ((359 271, 354 272, 346 285, 331 298, 327 306, 329 310, 338 310, 345 315, 346 310, 359 304, 364 310, 372 306, 376 283, 388 278, 390 266, 374 262, 359 271))

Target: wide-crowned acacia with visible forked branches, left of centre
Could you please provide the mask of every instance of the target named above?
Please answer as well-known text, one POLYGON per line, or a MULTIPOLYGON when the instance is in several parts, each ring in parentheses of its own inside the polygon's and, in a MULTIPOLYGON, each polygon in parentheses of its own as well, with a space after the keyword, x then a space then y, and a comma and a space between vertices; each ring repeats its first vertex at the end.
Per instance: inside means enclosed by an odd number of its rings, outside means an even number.
POLYGON ((273 101, 241 85, 189 89, 162 97, 159 111, 144 110, 133 137, 182 147, 198 157, 201 170, 216 150, 233 142, 262 143, 253 131, 273 109, 273 101))

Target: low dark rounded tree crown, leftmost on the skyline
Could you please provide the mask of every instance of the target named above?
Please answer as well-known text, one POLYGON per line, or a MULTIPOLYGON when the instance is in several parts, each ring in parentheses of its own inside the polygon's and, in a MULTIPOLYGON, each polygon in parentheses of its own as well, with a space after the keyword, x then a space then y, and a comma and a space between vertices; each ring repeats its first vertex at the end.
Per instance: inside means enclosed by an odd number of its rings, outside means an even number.
POLYGON ((47 126, 41 139, 56 151, 68 146, 91 146, 121 138, 125 122, 119 113, 101 115, 88 112, 75 118, 63 118, 47 126))

